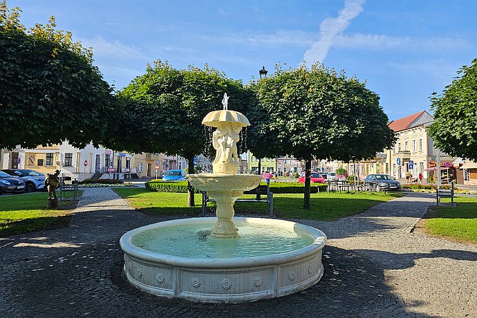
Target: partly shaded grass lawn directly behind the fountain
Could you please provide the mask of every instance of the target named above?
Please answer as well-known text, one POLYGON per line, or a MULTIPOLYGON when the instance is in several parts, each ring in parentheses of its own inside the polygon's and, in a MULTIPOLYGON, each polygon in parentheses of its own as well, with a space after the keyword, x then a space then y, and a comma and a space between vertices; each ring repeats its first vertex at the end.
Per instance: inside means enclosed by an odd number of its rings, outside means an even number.
MULTIPOLYGON (((196 207, 187 207, 187 194, 170 192, 152 192, 147 189, 114 189, 116 193, 128 200, 129 204, 142 212, 153 214, 182 214, 197 216, 201 212, 202 195, 196 194, 196 207)), ((303 194, 274 194, 274 214, 281 218, 310 218, 315 220, 333 220, 343 216, 350 216, 379 203, 391 200, 402 194, 339 194, 326 193, 311 194, 311 209, 303 210, 303 194)), ((254 196, 244 196, 253 198, 254 196)), ((214 211, 214 204, 209 203, 209 212, 214 211)), ((235 204, 236 214, 268 214, 266 203, 235 204)))

